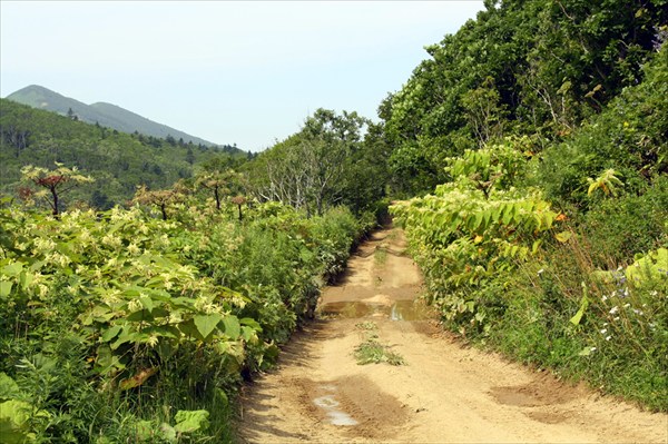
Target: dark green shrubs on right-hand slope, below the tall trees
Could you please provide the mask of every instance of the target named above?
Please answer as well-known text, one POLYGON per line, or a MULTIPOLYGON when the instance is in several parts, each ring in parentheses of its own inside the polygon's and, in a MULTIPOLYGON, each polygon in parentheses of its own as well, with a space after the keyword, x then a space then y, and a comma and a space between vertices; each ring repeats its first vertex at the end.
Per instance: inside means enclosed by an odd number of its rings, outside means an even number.
POLYGON ((627 194, 641 194, 648 180, 668 172, 668 48, 645 67, 644 82, 627 87, 598 116, 563 144, 546 150, 540 168, 551 199, 588 208, 587 178, 606 169, 620 172, 627 194))

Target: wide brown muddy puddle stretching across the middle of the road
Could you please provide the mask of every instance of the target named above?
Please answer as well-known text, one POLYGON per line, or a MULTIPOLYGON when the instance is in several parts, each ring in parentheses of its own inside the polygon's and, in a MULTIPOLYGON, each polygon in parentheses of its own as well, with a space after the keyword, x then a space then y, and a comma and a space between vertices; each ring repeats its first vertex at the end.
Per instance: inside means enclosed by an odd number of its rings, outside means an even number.
POLYGON ((423 320, 430 318, 429 307, 420 300, 396 300, 391 305, 367 302, 338 302, 320 307, 321 315, 350 319, 386 317, 392 320, 423 320))

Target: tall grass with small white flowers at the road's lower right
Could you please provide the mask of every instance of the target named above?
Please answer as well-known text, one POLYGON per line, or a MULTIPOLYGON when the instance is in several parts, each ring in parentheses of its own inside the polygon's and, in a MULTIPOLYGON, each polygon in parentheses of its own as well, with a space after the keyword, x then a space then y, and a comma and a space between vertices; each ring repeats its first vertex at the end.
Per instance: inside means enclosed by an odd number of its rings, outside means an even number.
MULTIPOLYGON (((523 363, 667 412, 666 272, 661 276, 648 264, 601 269, 597 254, 590 239, 573 235, 540 260, 519 264, 514 275, 500 276, 505 309, 479 339, 523 363), (635 279, 629 268, 638 269, 635 279)), ((612 257, 605 262, 616 264, 612 257)))

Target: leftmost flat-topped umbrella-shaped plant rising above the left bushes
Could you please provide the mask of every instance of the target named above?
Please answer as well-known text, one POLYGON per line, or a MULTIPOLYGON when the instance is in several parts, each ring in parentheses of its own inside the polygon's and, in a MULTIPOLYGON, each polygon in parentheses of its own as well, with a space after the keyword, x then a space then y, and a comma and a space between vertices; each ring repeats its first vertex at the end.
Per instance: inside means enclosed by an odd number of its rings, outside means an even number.
POLYGON ((80 184, 94 182, 95 179, 90 176, 80 175, 77 167, 70 169, 59 162, 56 162, 56 169, 50 170, 28 165, 21 168, 21 175, 23 180, 29 180, 45 188, 42 193, 37 193, 36 196, 43 197, 51 207, 53 216, 58 217, 62 195, 80 184))

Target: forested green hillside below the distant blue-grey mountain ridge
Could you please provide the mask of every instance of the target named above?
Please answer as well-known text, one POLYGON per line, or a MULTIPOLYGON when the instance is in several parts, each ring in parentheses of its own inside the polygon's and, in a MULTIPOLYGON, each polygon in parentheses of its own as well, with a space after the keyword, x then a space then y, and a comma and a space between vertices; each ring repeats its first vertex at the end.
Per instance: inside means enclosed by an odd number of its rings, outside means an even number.
POLYGON ((232 147, 128 135, 7 99, 0 99, 0 136, 1 193, 17 194, 20 170, 26 165, 53 168, 55 162, 62 162, 96 179, 76 189, 70 200, 101 208, 124 204, 139 185, 150 189, 170 187, 191 177, 198 164, 214 158, 247 157, 232 147))

